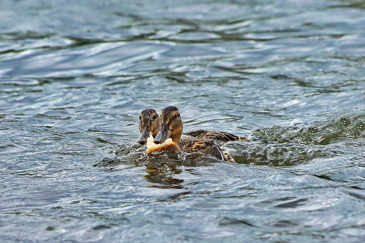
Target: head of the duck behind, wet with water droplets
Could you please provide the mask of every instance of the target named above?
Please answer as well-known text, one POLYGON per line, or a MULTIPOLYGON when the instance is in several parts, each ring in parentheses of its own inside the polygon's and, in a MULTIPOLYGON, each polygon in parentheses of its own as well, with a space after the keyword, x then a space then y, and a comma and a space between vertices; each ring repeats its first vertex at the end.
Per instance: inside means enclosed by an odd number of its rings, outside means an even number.
POLYGON ((137 143, 147 143, 147 138, 152 135, 155 137, 160 128, 160 117, 154 109, 145 109, 139 114, 139 136, 137 143))

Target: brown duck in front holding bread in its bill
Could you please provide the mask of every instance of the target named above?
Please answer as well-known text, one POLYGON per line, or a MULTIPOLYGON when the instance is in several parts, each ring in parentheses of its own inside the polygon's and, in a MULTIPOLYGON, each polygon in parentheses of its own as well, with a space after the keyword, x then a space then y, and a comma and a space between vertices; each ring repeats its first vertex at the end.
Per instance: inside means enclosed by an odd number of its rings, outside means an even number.
POLYGON ((180 112, 176 107, 169 106, 161 111, 160 131, 154 138, 155 144, 165 142, 166 139, 171 138, 175 143, 172 146, 163 148, 165 151, 181 151, 185 153, 200 152, 211 155, 223 161, 234 161, 222 148, 216 146, 211 140, 197 139, 190 137, 190 139, 180 140, 183 133, 183 121, 181 120, 180 112))

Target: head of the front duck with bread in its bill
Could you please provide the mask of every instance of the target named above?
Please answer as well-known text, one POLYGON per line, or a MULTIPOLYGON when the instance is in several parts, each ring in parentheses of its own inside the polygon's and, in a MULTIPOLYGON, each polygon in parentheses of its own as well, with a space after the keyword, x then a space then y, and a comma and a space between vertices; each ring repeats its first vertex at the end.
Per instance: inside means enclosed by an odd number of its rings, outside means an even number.
POLYGON ((160 144, 171 138, 174 143, 178 144, 182 132, 183 121, 179 110, 174 106, 166 107, 161 111, 160 131, 153 142, 160 144))

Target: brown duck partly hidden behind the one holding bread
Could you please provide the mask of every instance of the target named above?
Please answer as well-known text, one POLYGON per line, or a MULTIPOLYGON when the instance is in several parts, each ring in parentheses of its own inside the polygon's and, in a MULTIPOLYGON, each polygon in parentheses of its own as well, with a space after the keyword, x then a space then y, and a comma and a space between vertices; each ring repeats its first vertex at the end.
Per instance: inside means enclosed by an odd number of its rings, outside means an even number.
MULTIPOLYGON (((155 138, 160 130, 160 116, 158 116, 157 111, 155 109, 144 109, 139 114, 139 122, 138 122, 140 136, 137 140, 139 144, 147 143, 147 138, 151 135, 155 138)), ((197 139, 207 139, 207 140, 217 140, 220 142, 231 142, 231 141, 242 141, 242 142, 250 142, 249 139, 241 136, 237 136, 234 134, 230 134, 228 132, 218 132, 218 131, 205 131, 205 130, 196 130, 190 132, 183 132, 184 137, 194 137, 197 139)))

